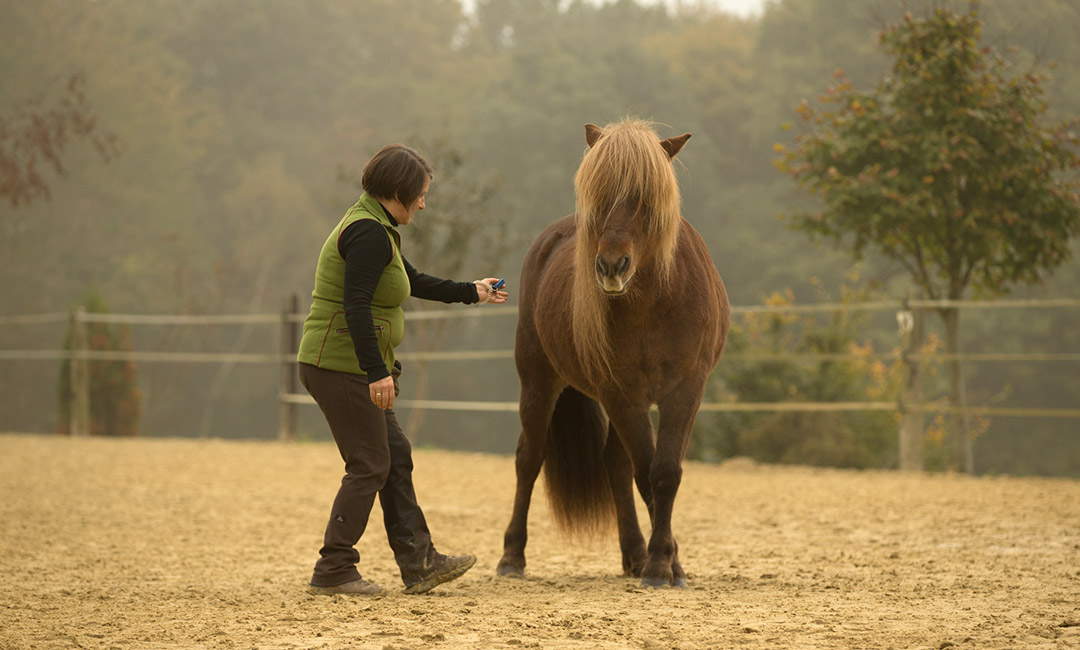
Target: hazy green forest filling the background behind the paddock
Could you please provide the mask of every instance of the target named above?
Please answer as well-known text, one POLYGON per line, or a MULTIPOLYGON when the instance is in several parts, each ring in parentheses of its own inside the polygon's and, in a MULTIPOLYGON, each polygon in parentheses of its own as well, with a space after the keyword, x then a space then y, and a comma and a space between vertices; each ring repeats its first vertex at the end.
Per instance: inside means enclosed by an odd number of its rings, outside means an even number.
MULTIPOLYGON (((477 0, 473 13, 463 4, 0 2, 0 112, 11 114, 27 98, 55 97, 50 93, 60 90, 57 80, 84 70, 93 113, 125 144, 123 155, 105 165, 92 147, 72 140, 76 146, 64 151, 63 181, 50 187, 51 201, 17 209, 0 202, 3 311, 54 312, 57 304, 82 299, 81 287, 93 285, 118 311, 275 312, 284 296, 309 295, 312 252, 355 199, 353 190, 343 191, 336 171, 359 168, 390 141, 429 154, 460 152, 453 176, 453 165, 436 163, 431 207, 421 215, 427 222, 406 238, 409 258, 451 274, 463 242, 444 240, 436 222, 456 219, 441 213, 458 194, 464 213, 482 215, 485 234, 492 228, 498 233, 495 224, 505 222, 505 236, 497 238, 494 249, 504 248, 499 268, 489 261, 492 248, 470 240, 461 273, 497 271, 513 287, 527 243, 573 209, 582 125, 627 113, 667 125, 661 127, 664 135, 693 134, 676 159, 684 212, 705 238, 732 301, 753 303, 791 287, 805 303, 818 297, 808 279, 835 286, 850 259, 811 245, 775 218, 779 212, 820 209, 820 198, 772 166, 772 144, 794 146, 798 131, 780 134, 781 125, 801 122, 793 107, 800 97, 815 96, 837 67, 851 83, 873 87, 890 64, 875 35, 902 21, 901 5, 916 13, 967 6, 950 0, 770 0, 759 18, 740 21, 708 3, 676 3, 672 11, 643 0, 477 0), (421 254, 429 233, 448 244, 432 246, 430 258, 421 254)), ((985 42, 1021 45, 1009 55, 1015 77, 1036 63, 1061 63, 1040 84, 1048 122, 1080 114, 1075 4, 981 4, 985 42)), ((41 168, 52 173, 44 163, 41 168)), ((921 178, 916 189, 930 189, 921 178)), ((867 274, 890 283, 888 295, 910 290, 897 262, 872 245, 865 257, 867 274)), ((1044 286, 1017 290, 1031 297, 1076 295, 1080 262, 1074 258, 1056 275, 1041 276, 1044 286)), ((967 341, 985 351, 1042 350, 1050 341, 1072 352, 1075 320, 1064 310, 1038 319, 999 310, 966 321, 967 341), (1017 326, 1001 335, 999 323, 1008 327, 1013 320, 1017 326)), ((445 344, 512 347, 512 319, 480 321, 453 323, 445 344)), ((260 331, 135 329, 140 349, 275 349, 272 334, 260 331)), ((48 349, 62 331, 9 329, 4 336, 12 348, 48 349)), ((419 329, 410 329, 406 346, 417 349, 419 342, 419 329)), ((15 396, 0 403, 0 423, 40 430, 40 414, 52 412, 55 366, 5 363, 11 365, 0 368, 0 389, 15 396), (27 379, 36 375, 41 379, 27 379)), ((164 435, 200 430, 272 435, 276 376, 264 370, 140 366, 147 393, 141 428, 164 435), (207 387, 219 384, 228 390, 210 418, 207 387)), ((455 364, 431 364, 430 370, 432 397, 517 397, 510 363, 478 362, 468 373, 455 364)), ((1075 404, 1077 373, 1068 364, 983 364, 967 371, 973 403, 986 403, 1009 383, 1014 389, 1009 405, 1075 404)), ((403 381, 411 381, 408 377, 403 381)), ((318 412, 301 411, 309 415, 313 429, 324 426, 318 412)), ((511 452, 516 417, 507 414, 496 424, 497 417, 503 416, 440 414, 438 426, 428 426, 423 438, 440 435, 441 446, 511 452)), ((53 421, 50 416, 45 426, 53 421)), ((737 429, 729 428, 732 435, 737 429)), ((981 466, 1080 471, 1074 460, 1080 456, 1069 446, 1076 436, 1066 429, 1059 420, 996 420, 978 441, 978 458, 987 462, 981 466), (1040 439, 1057 441, 1054 451, 1014 446, 1040 428, 1047 431, 1040 439)), ((719 449, 721 441, 714 442, 711 448, 719 449)))

